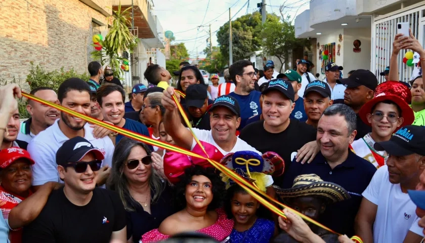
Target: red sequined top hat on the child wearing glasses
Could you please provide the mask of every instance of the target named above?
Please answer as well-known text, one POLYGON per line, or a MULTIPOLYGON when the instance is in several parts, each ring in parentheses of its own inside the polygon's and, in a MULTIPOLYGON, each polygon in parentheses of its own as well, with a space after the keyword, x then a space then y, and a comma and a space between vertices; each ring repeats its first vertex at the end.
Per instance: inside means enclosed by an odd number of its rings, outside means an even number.
MULTIPOLYGON (((412 94, 405 85, 397 81, 387 81, 379 84, 373 95, 373 99, 369 100, 366 104, 362 106, 359 112, 359 116, 362 119, 363 123, 371 126, 367 120, 367 114, 372 112, 373 106, 377 103, 391 100, 396 103, 401 109, 401 117, 404 118, 401 127, 411 125, 415 120, 415 115, 412 108, 408 105, 412 101, 412 94)), ((398 128, 396 129, 396 131, 398 128)))

